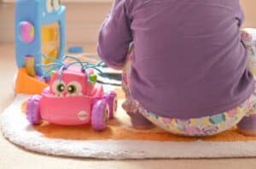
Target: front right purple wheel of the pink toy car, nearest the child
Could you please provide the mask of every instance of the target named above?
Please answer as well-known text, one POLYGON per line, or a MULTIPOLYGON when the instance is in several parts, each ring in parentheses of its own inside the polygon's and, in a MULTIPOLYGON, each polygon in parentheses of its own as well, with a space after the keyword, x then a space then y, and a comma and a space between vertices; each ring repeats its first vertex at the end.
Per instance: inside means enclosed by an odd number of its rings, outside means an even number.
POLYGON ((107 127, 109 119, 109 108, 106 100, 98 100, 93 105, 91 112, 91 126, 96 131, 102 131, 107 127))

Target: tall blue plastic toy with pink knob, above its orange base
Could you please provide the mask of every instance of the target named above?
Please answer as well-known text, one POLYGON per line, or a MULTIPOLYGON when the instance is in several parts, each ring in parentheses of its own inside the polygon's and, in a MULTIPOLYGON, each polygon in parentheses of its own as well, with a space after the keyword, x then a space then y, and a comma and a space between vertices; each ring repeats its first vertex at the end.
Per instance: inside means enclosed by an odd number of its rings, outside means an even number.
POLYGON ((44 70, 37 65, 50 62, 42 55, 62 59, 66 43, 65 14, 66 8, 60 0, 16 1, 15 45, 19 68, 29 67, 29 75, 42 76, 44 70))

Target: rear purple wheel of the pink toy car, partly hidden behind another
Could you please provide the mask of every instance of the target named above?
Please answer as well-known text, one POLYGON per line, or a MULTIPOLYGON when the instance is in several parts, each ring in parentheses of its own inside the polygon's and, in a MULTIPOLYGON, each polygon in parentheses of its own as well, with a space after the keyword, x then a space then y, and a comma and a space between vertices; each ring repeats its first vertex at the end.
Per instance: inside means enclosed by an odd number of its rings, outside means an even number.
POLYGON ((103 99, 106 99, 109 106, 109 118, 112 119, 116 113, 118 101, 117 94, 113 91, 105 93, 103 99))

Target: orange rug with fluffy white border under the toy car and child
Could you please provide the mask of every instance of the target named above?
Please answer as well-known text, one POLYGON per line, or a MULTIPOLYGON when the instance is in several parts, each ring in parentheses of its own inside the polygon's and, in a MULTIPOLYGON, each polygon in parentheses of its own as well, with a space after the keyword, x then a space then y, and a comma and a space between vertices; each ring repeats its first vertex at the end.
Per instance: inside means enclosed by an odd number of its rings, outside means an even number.
POLYGON ((103 132, 90 126, 61 127, 44 122, 38 127, 26 121, 24 106, 28 95, 17 95, 1 117, 3 136, 24 149, 46 155, 97 159, 222 158, 256 157, 256 138, 236 128, 207 138, 183 138, 154 127, 131 128, 120 108, 124 99, 119 88, 119 111, 103 132))

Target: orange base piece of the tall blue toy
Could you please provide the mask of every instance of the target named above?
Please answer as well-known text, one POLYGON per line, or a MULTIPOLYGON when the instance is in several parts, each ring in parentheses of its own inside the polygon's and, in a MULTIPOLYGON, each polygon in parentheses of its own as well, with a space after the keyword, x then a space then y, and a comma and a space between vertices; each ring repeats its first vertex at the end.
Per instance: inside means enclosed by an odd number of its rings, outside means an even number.
POLYGON ((29 76, 26 68, 20 68, 15 82, 15 93, 40 94, 48 84, 29 76))

